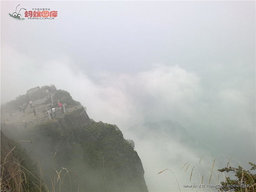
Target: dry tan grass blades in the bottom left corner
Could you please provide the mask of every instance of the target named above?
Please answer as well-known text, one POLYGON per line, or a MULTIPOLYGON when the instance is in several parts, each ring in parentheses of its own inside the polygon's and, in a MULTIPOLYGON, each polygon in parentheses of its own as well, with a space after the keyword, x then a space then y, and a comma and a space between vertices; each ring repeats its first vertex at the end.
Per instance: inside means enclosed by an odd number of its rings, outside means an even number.
MULTIPOLYGON (((42 168, 40 167, 39 160, 39 177, 23 167, 20 162, 6 161, 7 157, 12 153, 14 148, 12 148, 12 150, 5 156, 4 163, 1 165, 1 190, 15 192, 61 192, 63 190, 62 187, 64 185, 65 176, 67 175, 69 178, 69 184, 71 189, 70 192, 72 192, 72 171, 68 170, 67 168, 61 168, 60 171, 57 171, 55 168, 53 168, 55 174, 50 175, 51 186, 48 187, 46 182, 44 181, 42 168)), ((77 176, 75 173, 74 175, 77 176)), ((83 192, 79 182, 74 182, 78 185, 77 192, 83 192)))

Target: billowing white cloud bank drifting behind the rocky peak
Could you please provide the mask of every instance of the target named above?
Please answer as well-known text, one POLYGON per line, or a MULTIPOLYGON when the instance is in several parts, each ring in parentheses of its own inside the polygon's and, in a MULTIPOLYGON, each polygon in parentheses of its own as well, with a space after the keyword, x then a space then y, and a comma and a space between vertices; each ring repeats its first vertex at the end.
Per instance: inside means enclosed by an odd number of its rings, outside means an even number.
MULTIPOLYGON (((252 126, 251 117, 246 117, 237 110, 242 106, 248 112, 248 98, 244 93, 235 87, 221 87, 209 99, 205 93, 212 87, 203 87, 202 79, 196 73, 179 65, 154 65, 151 69, 136 74, 116 75, 99 71, 94 74, 96 80, 93 80, 88 74, 81 72, 68 56, 37 61, 10 47, 2 49, 2 54, 1 101, 25 94, 26 90, 35 86, 55 84, 58 89, 67 90, 75 100, 86 106, 90 118, 117 124, 125 138, 135 140, 150 190, 176 190, 177 185, 170 178, 171 174, 170 177, 155 175, 165 168, 173 169, 180 181, 188 182, 188 174, 180 172, 181 164, 189 160, 197 161, 200 156, 179 142, 158 142, 150 138, 140 140, 136 130, 131 133, 128 128, 137 126, 136 129, 144 131, 144 127, 138 125, 145 121, 170 119, 179 121, 190 129, 190 133, 200 136, 202 130, 212 131, 215 125, 230 125, 226 129, 234 125, 232 130, 239 130, 239 117, 243 117, 243 122, 248 125, 244 129, 251 129, 252 126), (225 119, 227 114, 229 118, 225 119)), ((227 138, 227 141, 230 140, 227 138)))

